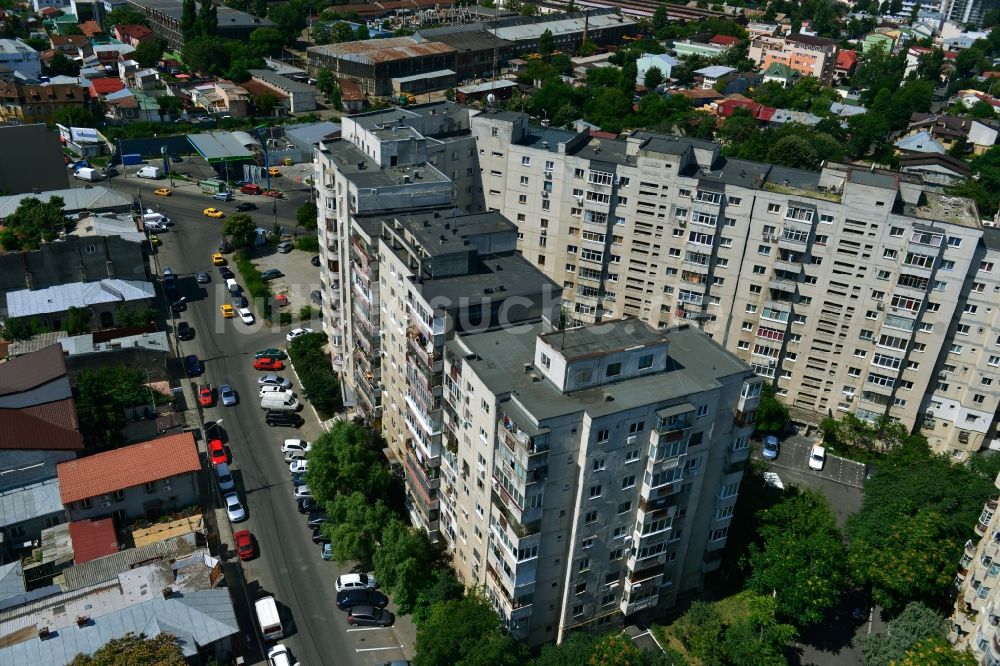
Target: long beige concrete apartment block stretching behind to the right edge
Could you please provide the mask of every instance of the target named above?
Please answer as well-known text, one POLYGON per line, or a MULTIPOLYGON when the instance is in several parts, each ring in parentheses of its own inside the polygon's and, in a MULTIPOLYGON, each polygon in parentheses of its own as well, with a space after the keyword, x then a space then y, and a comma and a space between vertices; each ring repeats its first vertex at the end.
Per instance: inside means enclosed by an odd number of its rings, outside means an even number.
POLYGON ((919 177, 472 118, 483 196, 576 322, 697 324, 797 419, 882 414, 956 459, 995 437, 1000 235, 919 177))

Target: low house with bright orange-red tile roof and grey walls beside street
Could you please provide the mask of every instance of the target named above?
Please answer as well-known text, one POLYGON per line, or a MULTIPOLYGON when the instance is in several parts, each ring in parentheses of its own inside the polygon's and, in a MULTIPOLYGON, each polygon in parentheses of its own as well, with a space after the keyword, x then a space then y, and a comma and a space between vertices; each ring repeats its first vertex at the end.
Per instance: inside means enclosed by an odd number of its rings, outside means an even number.
POLYGON ((60 463, 59 494, 70 521, 111 516, 158 520, 198 504, 201 459, 194 436, 167 435, 148 442, 60 463))

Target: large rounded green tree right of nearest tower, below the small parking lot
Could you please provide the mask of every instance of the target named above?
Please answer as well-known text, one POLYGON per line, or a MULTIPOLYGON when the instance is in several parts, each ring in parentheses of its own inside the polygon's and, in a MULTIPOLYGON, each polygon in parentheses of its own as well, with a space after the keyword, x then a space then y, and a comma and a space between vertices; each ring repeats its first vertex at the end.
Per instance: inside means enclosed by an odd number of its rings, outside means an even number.
POLYGON ((757 518, 761 545, 750 544, 747 586, 774 594, 780 618, 798 627, 819 624, 849 586, 846 552, 830 506, 806 491, 786 495, 757 518))

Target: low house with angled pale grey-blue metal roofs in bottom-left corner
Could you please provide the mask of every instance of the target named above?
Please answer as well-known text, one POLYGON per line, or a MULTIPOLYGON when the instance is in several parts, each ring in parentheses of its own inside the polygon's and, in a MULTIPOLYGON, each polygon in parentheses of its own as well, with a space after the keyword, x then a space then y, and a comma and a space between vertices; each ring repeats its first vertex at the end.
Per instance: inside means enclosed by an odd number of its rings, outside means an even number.
MULTIPOLYGON (((102 565, 95 571, 115 570, 105 564, 114 557, 94 560, 102 565)), ((129 633, 172 634, 188 663, 229 663, 240 626, 230 591, 214 586, 218 565, 201 549, 151 558, 73 591, 49 586, 30 598, 13 597, 0 607, 0 664, 68 664, 129 633)))

